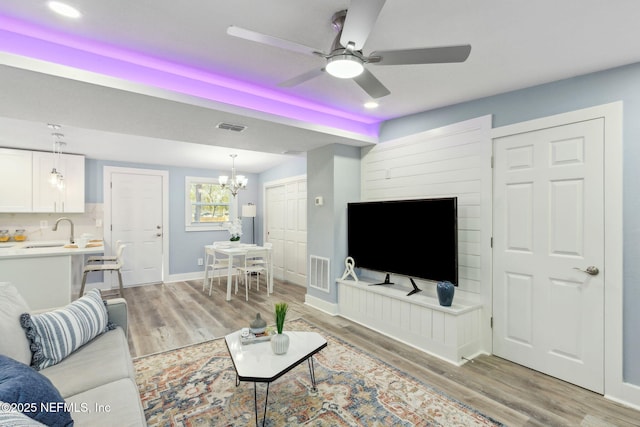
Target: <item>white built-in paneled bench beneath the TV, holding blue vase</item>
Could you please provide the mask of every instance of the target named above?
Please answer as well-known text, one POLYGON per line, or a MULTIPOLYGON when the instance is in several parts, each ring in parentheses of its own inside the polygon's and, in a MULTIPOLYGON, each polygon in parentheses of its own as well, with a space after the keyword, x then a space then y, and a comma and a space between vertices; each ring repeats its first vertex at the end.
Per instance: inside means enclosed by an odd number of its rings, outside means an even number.
POLYGON ((338 280, 340 316, 455 365, 481 353, 481 304, 443 307, 425 294, 394 286, 338 280))

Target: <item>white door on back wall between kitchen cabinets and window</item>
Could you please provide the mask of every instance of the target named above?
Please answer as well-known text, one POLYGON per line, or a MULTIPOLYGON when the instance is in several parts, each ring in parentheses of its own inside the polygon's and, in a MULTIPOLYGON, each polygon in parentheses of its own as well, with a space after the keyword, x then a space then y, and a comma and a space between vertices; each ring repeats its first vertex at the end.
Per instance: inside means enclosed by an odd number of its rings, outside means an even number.
MULTIPOLYGON (((163 279, 163 177, 116 172, 111 178, 111 245, 124 249, 125 286, 163 279)), ((113 285, 112 285, 113 286, 113 285)))

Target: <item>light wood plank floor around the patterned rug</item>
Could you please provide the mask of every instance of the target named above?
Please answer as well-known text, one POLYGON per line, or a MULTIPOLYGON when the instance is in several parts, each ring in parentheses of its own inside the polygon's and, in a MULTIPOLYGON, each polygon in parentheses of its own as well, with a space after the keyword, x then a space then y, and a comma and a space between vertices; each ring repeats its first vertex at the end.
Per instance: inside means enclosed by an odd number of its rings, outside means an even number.
POLYGON ((274 323, 273 305, 289 303, 287 319, 305 318, 426 384, 509 426, 640 426, 640 411, 513 364, 481 356, 455 367, 341 317, 304 305, 305 288, 276 282, 266 295, 255 286, 245 302, 244 289, 224 300, 225 286, 214 282, 213 294, 202 281, 127 288, 129 346, 132 356, 170 350, 220 338, 248 326, 261 313, 274 323))

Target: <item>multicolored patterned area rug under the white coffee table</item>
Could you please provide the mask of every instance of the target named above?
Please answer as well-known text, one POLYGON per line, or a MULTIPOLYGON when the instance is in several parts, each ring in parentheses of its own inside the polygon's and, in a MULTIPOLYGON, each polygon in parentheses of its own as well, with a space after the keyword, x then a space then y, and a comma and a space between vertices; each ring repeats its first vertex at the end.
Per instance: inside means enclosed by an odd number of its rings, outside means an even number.
MULTIPOLYGON (((269 387, 267 426, 496 426, 476 410, 332 337, 304 320, 328 346, 314 356, 317 391, 303 363, 269 387)), ((134 360, 149 426, 254 425, 254 385, 236 375, 224 339, 134 360)), ((258 384, 262 420, 265 384, 258 384)))

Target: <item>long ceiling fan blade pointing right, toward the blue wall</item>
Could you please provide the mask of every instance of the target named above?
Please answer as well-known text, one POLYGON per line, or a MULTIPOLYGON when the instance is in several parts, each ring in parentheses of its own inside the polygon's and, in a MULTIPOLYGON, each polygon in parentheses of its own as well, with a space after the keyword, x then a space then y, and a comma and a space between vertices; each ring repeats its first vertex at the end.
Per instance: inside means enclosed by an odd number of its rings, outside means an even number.
POLYGON ((471 46, 468 44, 423 49, 381 50, 371 53, 370 62, 379 65, 442 64, 464 62, 470 53, 471 46), (376 61, 375 57, 380 57, 380 60, 376 61))

